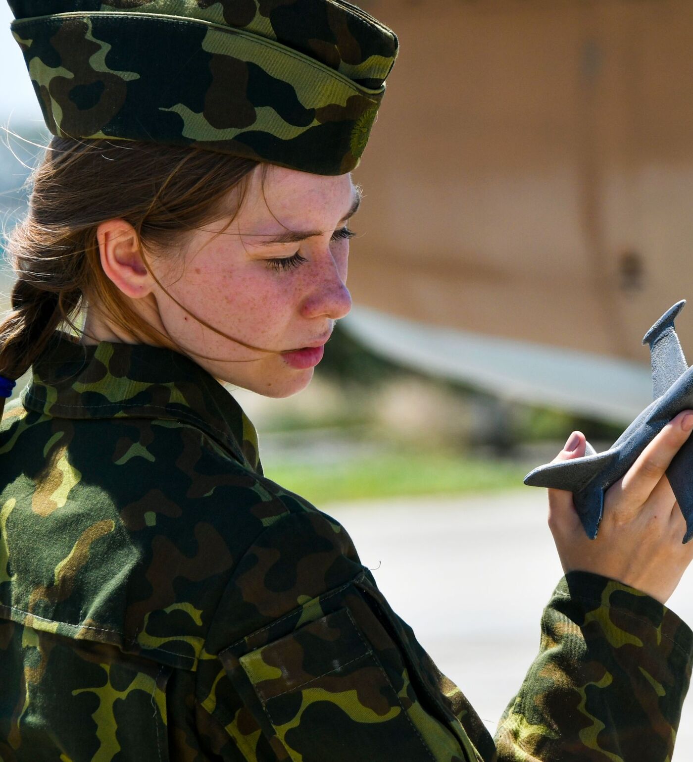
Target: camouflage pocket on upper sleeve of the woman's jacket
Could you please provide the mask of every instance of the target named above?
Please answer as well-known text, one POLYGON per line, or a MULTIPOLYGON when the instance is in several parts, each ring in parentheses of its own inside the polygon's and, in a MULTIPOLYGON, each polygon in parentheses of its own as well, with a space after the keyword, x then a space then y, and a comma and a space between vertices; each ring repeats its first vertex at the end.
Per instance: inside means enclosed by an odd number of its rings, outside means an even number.
POLYGON ((393 638, 362 593, 350 586, 340 597, 331 596, 334 606, 331 613, 258 648, 240 653, 232 647, 219 655, 276 757, 295 762, 476 760, 462 751, 441 712, 432 714, 430 701, 421 700, 425 691, 415 687, 420 674, 411 679, 413 668, 407 667, 396 633, 393 638))

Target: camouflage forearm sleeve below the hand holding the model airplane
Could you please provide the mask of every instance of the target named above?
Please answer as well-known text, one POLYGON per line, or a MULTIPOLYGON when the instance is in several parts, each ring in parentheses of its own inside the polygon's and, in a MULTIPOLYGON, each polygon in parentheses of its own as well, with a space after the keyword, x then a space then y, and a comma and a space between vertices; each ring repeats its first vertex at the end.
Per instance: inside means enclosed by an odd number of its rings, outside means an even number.
POLYGON ((570 572, 500 721, 499 762, 669 762, 691 655, 693 633, 671 610, 620 582, 570 572))

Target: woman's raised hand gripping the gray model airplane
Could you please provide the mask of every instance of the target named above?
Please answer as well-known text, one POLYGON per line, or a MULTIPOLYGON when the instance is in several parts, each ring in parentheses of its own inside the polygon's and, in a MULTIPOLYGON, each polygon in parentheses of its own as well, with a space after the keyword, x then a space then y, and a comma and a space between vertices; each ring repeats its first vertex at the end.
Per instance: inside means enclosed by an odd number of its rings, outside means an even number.
MULTIPOLYGON (((682 543, 685 520, 665 475, 691 428, 693 411, 679 413, 608 488, 596 539, 585 534, 572 493, 548 491, 548 525, 565 572, 592 571, 666 602, 693 560, 693 540, 682 543)), ((576 431, 554 463, 584 454, 585 437, 576 431)))

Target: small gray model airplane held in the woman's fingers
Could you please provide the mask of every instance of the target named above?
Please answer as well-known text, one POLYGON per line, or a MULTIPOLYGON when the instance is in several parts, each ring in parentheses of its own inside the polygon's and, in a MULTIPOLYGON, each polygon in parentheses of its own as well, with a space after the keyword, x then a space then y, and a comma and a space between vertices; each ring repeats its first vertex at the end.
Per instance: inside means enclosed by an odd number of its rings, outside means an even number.
MULTIPOLYGON (((583 527, 591 539, 597 536, 604 509, 604 493, 635 463, 656 434, 675 415, 693 409, 693 367, 686 363, 674 320, 685 299, 672 306, 645 334, 650 344, 654 402, 644 409, 608 450, 596 453, 588 443, 581 458, 548 463, 525 476, 532 487, 566 489, 583 527)), ((676 453, 666 476, 686 520, 684 543, 693 536, 693 437, 676 453)))

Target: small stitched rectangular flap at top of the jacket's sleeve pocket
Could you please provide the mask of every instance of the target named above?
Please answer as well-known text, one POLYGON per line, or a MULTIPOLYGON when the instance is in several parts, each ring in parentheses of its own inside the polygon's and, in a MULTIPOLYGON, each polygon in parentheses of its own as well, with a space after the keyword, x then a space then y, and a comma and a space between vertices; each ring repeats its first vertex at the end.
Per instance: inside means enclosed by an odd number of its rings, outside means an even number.
POLYGON ((263 703, 336 672, 370 653, 347 609, 323 616, 241 656, 241 666, 263 703))

